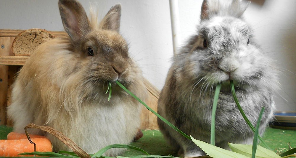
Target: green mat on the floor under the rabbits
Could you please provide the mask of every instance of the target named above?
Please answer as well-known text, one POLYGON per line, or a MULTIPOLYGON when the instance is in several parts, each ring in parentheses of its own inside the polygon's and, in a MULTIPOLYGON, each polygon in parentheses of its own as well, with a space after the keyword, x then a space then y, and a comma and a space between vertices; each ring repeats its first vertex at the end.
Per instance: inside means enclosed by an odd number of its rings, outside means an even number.
MULTIPOLYGON (((12 128, 0 126, 0 139, 6 139, 6 136, 12 128)), ((131 143, 131 145, 139 147, 151 155, 173 155, 177 156, 176 151, 166 144, 163 135, 159 130, 143 130, 144 136, 131 143)), ((296 131, 267 128, 263 136, 266 144, 276 153, 285 152, 290 148, 296 147, 296 131)), ((123 156, 142 155, 141 152, 127 150, 123 156)))

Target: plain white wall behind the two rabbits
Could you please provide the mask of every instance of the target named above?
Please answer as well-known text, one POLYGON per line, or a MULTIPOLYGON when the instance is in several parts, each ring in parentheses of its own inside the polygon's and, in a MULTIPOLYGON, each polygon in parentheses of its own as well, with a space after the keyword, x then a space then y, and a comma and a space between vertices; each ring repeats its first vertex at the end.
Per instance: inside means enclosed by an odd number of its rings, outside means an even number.
MULTIPOLYGON (((159 89, 173 56, 169 2, 164 0, 80 0, 88 12, 90 4, 103 17, 109 8, 122 4, 121 34, 130 43, 131 56, 144 76, 159 89)), ((202 0, 179 0, 184 43, 199 23, 202 0)), ((62 31, 57 0, 0 0, 0 29, 42 28, 62 31)), ((245 12, 247 22, 266 55, 279 62, 282 91, 276 97, 278 110, 296 111, 296 1, 256 0, 245 12), (283 96, 285 99, 283 99, 283 96), (287 100, 287 101, 286 101, 287 100)))

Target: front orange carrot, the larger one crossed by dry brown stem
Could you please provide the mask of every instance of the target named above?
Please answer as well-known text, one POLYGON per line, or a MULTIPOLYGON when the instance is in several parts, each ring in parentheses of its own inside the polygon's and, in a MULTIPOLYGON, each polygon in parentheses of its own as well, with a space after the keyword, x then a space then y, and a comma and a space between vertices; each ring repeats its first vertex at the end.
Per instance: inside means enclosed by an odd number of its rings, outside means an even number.
MULTIPOLYGON (((52 143, 47 138, 32 138, 36 143, 36 151, 52 152, 52 143)), ((28 139, 0 140, 0 157, 18 157, 23 152, 34 152, 34 144, 28 139)), ((32 155, 26 155, 32 156, 32 155)))

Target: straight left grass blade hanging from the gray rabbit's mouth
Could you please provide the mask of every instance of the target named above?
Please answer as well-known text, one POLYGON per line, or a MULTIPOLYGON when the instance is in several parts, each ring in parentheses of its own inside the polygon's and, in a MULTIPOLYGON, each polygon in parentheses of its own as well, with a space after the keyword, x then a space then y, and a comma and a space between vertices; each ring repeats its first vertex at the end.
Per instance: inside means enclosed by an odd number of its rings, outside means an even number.
POLYGON ((212 123, 211 123, 211 145, 215 145, 215 116, 216 116, 216 109, 217 103, 219 98, 221 85, 216 85, 215 96, 213 101, 213 109, 212 109, 212 123))

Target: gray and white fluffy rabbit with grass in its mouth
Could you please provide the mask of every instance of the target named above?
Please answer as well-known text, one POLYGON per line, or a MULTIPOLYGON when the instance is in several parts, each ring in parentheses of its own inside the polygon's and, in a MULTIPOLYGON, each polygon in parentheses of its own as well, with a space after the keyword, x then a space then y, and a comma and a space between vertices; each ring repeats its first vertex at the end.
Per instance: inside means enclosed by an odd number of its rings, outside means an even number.
MULTIPOLYGON (((173 58, 160 93, 158 113, 181 131, 210 143, 211 113, 215 86, 222 84, 215 118, 215 145, 250 144, 253 132, 241 116, 230 91, 234 80, 238 100, 253 125, 262 107, 265 111, 260 135, 275 109, 277 87, 273 60, 253 39, 253 29, 244 21, 247 9, 238 0, 204 0, 201 22, 188 43, 173 58)), ((160 119, 161 132, 185 157, 205 153, 191 140, 178 134, 160 119)))

